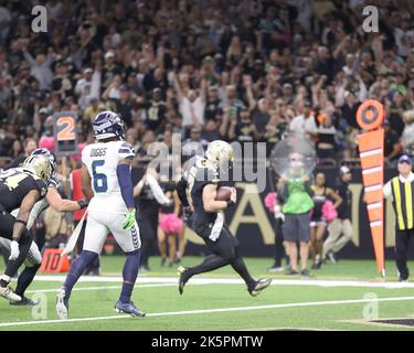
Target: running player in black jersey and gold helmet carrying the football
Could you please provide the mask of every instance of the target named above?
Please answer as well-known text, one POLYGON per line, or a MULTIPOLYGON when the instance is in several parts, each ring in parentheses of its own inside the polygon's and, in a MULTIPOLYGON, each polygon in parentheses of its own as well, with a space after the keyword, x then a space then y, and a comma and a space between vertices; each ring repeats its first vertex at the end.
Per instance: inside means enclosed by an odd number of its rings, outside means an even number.
MULTIPOLYGON (((233 148, 225 141, 215 140, 209 145, 206 158, 199 158, 187 174, 188 194, 193 206, 192 229, 212 252, 202 264, 191 268, 178 268, 179 292, 182 295, 187 281, 194 275, 209 272, 231 265, 247 285, 252 296, 257 296, 270 285, 270 279, 255 280, 248 272, 238 253, 238 240, 224 224, 223 211, 236 203, 236 190, 232 188, 229 201, 215 200, 220 186, 220 173, 233 161, 233 148)), ((182 199, 182 181, 181 181, 182 199)))

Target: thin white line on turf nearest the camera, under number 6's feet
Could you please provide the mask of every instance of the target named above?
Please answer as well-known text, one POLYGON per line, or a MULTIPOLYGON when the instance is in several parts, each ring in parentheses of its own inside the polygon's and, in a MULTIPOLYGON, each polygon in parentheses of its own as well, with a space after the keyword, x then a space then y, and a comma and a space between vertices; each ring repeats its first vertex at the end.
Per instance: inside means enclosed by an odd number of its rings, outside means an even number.
MULTIPOLYGON (((374 301, 407 301, 414 300, 414 297, 391 297, 391 298, 378 298, 374 301)), ((300 307, 326 307, 337 304, 354 304, 372 302, 372 299, 353 299, 353 300, 331 300, 331 301, 310 301, 310 302, 293 302, 285 304, 267 304, 267 306, 252 306, 252 307, 234 307, 234 308, 216 308, 216 309, 201 309, 201 310, 187 310, 187 311, 167 311, 167 312, 155 312, 148 313, 147 317, 173 317, 173 315, 191 315, 202 313, 214 313, 214 312, 232 312, 232 311, 251 311, 251 310, 269 310, 269 309, 285 309, 285 308, 300 308, 300 307)), ((0 328, 8 327, 21 327, 21 325, 39 325, 47 323, 71 323, 71 322, 83 322, 83 321, 104 321, 115 319, 127 319, 127 315, 112 315, 112 317, 97 317, 97 318, 78 318, 67 320, 39 320, 39 321, 23 321, 23 322, 2 322, 0 328)), ((146 319, 140 319, 146 320, 146 319)))

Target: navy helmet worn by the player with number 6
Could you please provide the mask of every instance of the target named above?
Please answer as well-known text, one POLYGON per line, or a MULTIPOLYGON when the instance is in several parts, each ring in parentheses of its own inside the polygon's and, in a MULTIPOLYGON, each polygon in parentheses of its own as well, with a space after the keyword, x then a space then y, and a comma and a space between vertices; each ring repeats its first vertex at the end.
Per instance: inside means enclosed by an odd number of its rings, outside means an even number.
POLYGON ((93 124, 94 136, 97 140, 104 140, 112 137, 125 139, 124 121, 120 116, 114 111, 106 110, 99 113, 93 124))

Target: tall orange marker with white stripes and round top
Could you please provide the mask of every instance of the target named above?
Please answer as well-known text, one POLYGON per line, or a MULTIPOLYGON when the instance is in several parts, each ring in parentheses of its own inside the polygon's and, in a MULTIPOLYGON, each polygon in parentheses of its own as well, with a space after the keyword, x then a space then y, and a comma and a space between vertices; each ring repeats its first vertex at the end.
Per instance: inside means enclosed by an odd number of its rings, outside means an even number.
POLYGON ((357 121, 367 132, 358 136, 368 218, 374 245, 376 268, 385 278, 384 264, 384 109, 376 100, 367 100, 357 111, 357 121))

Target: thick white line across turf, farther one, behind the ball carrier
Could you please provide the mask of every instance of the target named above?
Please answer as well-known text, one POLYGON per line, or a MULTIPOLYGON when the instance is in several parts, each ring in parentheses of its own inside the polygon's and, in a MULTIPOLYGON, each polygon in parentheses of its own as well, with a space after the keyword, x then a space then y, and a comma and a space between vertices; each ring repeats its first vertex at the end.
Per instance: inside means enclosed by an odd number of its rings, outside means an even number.
MULTIPOLYGON (((64 282, 66 276, 36 276, 35 281, 64 282)), ((79 282, 121 282, 123 277, 118 276, 82 276, 79 282)), ((137 285, 141 284, 177 284, 178 277, 138 277, 137 285)), ((244 281, 240 278, 206 278, 195 277, 190 284, 202 285, 241 285, 244 281)), ((282 286, 317 286, 317 287, 367 287, 367 288, 414 288, 414 282, 374 282, 362 280, 325 280, 325 279, 273 279, 273 285, 282 286)))

